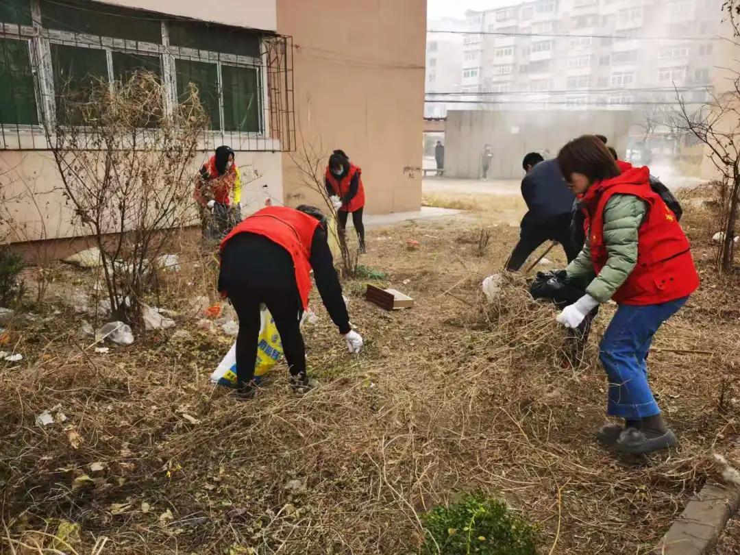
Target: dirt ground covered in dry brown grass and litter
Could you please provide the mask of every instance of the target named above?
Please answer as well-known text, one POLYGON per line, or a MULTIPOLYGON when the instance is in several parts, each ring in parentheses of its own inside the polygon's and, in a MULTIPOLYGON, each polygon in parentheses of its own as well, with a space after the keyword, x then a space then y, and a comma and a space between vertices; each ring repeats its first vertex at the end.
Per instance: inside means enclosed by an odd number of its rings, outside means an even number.
POLYGON ((303 397, 282 365, 246 403, 208 383, 233 338, 198 328, 215 262, 191 246, 151 300, 177 313, 175 328, 107 354, 78 333, 91 317, 68 306, 95 277, 55 269, 44 306, 13 321, 2 346, 24 356, 0 362, 3 552, 412 554, 420 514, 478 488, 536 523, 543 554, 647 554, 716 477, 711 454, 740 462, 740 288, 713 270, 710 208, 687 201, 703 286, 649 360, 681 444, 624 458, 592 437, 605 420, 597 341, 611 309, 583 363, 564 368, 554 309, 522 278, 493 304, 479 292, 516 242, 521 201, 434 192, 425 203, 469 213, 372 230, 361 263, 387 276, 344 283, 363 354, 347 354, 314 293, 319 321, 305 334, 321 386, 303 397), (384 312, 363 299, 366 283, 416 306, 384 312), (56 406, 54 423, 36 423, 56 406))

